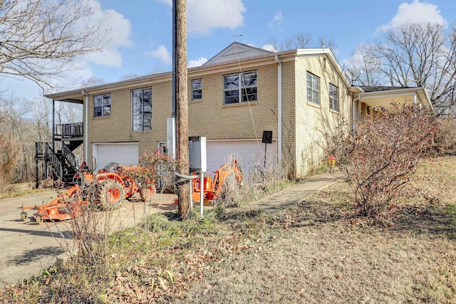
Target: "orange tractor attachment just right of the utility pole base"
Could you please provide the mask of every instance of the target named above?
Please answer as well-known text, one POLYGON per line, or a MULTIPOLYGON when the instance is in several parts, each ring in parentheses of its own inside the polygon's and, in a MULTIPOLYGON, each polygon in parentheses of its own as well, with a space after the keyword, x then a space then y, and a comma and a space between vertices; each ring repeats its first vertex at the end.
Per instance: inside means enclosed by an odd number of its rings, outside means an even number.
MULTIPOLYGON (((211 201, 219 198, 224 185, 227 184, 229 179, 232 179, 239 184, 242 182, 242 171, 239 168, 236 159, 233 159, 232 162, 222 164, 214 174, 213 180, 210 174, 207 174, 207 177, 204 177, 203 201, 205 206, 208 206, 211 201)), ((199 201, 199 196, 201 194, 199 179, 192 179, 192 188, 192 199, 194 201, 199 201)))

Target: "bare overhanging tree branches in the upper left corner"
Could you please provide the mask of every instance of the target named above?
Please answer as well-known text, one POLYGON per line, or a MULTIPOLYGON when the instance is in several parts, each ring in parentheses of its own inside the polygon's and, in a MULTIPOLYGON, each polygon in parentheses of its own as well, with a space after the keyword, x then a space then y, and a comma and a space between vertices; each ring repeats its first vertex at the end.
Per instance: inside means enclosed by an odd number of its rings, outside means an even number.
POLYGON ((0 0, 0 73, 50 85, 74 58, 102 50, 92 14, 87 0, 0 0))

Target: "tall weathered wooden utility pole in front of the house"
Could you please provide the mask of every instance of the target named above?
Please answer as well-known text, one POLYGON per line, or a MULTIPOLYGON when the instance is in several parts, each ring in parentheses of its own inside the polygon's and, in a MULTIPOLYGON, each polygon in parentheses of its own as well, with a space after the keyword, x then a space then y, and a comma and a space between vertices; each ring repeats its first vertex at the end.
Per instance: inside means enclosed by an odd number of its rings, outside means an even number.
MULTIPOLYGON (((179 173, 190 174, 188 152, 188 100, 187 100, 187 4, 186 0, 175 0, 176 4, 176 120, 177 158, 179 173)), ((179 187, 179 215, 185 219, 190 206, 190 181, 179 187)))

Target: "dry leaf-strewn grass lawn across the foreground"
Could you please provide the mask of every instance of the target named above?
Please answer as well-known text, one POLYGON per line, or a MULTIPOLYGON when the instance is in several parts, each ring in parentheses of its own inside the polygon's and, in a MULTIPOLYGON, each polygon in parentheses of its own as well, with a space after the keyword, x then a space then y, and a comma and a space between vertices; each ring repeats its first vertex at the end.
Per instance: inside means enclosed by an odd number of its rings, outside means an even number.
POLYGON ((51 268, 0 302, 456 303, 455 172, 456 157, 427 159, 380 223, 344 183, 283 214, 157 216, 110 239, 109 267, 51 268))

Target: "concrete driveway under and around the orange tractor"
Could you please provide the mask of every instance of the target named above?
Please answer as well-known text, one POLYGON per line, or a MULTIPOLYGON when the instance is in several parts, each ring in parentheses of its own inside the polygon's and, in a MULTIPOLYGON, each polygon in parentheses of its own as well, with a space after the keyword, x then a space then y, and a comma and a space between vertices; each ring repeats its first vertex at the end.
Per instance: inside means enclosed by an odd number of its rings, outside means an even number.
MULTIPOLYGON (((36 224, 31 219, 21 221, 21 206, 43 204, 57 196, 55 191, 41 192, 13 199, 0 200, 0 285, 16 283, 56 262, 57 256, 71 250, 69 221, 36 224)), ((119 209, 100 212, 110 219, 110 229, 124 229, 138 224, 147 214, 176 209, 176 196, 155 194, 151 201, 125 201, 119 209)), ((35 211, 28 210, 31 218, 35 211)))

